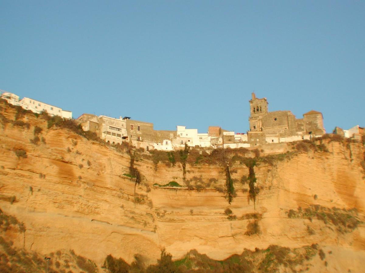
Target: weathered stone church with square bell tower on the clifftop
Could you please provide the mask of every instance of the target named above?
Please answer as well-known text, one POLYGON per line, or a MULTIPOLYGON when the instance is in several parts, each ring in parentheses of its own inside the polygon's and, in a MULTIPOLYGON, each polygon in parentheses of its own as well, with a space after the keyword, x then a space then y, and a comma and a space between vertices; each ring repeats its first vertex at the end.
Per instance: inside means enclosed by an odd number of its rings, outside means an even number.
POLYGON ((266 98, 256 98, 252 93, 250 102, 250 131, 247 140, 251 145, 289 142, 310 139, 325 134, 323 115, 318 111, 309 111, 297 119, 291 111, 268 111, 266 98))

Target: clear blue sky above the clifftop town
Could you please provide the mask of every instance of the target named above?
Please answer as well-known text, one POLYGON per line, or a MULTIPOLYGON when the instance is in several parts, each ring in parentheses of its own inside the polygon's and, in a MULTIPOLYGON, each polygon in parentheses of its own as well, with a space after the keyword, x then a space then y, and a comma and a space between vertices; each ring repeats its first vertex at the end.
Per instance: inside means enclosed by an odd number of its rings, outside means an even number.
POLYGON ((156 130, 269 111, 365 126, 365 1, 4 1, 0 89, 156 130))

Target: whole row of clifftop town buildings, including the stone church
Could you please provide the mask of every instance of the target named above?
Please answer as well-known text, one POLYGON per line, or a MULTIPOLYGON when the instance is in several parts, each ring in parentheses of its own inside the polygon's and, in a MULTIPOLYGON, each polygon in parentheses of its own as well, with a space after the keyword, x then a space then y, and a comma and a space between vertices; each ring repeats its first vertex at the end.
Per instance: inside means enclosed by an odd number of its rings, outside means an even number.
MULTIPOLYGON (((52 106, 35 99, 19 99, 19 96, 7 91, 1 98, 8 103, 21 106, 36 113, 46 111, 50 115, 58 115, 65 119, 72 118, 72 112, 52 106)), ((323 127, 323 115, 311 110, 297 119, 291 111, 268 110, 266 98, 256 98, 252 93, 249 100, 250 130, 246 133, 235 133, 224 130, 220 126, 209 126, 207 133, 198 133, 197 129, 176 126, 176 131, 154 130, 153 123, 133 120, 128 116, 112 118, 104 115, 82 114, 75 121, 80 123, 84 131, 92 131, 102 140, 111 144, 127 142, 137 148, 149 150, 172 151, 183 149, 185 145, 203 148, 240 148, 265 144, 300 141, 321 137, 326 133, 323 127)), ((335 127, 334 134, 346 138, 361 139, 364 128, 354 126, 349 130, 335 127)))

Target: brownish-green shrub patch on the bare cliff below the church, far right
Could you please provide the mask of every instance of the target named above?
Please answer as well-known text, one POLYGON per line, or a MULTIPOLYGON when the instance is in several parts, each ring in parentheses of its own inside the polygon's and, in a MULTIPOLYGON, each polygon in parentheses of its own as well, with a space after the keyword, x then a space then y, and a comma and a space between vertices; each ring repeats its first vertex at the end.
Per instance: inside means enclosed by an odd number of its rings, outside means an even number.
POLYGON ((361 221, 357 217, 356 209, 338 209, 333 207, 322 207, 320 205, 310 205, 306 209, 302 210, 301 207, 297 211, 289 210, 289 218, 304 218, 312 220, 316 217, 318 220, 323 221, 326 225, 334 225, 337 227, 338 232, 347 233, 353 232, 361 221))

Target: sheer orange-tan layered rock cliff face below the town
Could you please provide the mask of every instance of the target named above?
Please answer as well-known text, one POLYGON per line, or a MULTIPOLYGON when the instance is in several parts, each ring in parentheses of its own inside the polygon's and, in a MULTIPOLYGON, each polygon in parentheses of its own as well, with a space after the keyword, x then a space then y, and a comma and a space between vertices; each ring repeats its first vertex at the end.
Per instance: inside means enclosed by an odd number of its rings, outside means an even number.
POLYGON ((362 143, 327 140, 326 152, 280 146, 294 153, 261 157, 251 168, 259 189, 255 202, 249 168, 233 161, 229 173, 237 196, 229 204, 226 166, 187 164, 184 180, 181 163, 156 169, 148 154, 139 153, 138 184, 130 177, 127 152, 0 106, 0 207, 26 226, 24 238, 8 234, 18 247, 39 253, 73 249, 100 266, 108 254, 127 262, 141 254, 154 262, 164 247, 174 258, 196 249, 224 259, 244 248, 319 244, 331 254, 327 266, 315 260, 314 271, 361 271, 362 143), (190 189, 153 186, 170 181, 190 189), (259 232, 252 232, 253 224, 259 232))

